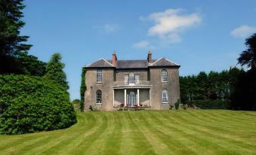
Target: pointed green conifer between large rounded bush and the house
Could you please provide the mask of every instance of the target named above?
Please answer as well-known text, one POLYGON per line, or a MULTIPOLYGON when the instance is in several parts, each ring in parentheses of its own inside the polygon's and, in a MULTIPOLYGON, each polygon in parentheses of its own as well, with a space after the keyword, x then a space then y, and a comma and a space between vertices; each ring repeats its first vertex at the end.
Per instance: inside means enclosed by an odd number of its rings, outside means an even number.
POLYGON ((54 53, 54 55, 51 56, 50 61, 46 65, 46 74, 45 78, 51 79, 57 84, 60 84, 66 90, 69 89, 69 85, 66 81, 66 74, 63 71, 63 68, 65 67, 65 64, 60 62, 61 56, 60 53, 54 53))

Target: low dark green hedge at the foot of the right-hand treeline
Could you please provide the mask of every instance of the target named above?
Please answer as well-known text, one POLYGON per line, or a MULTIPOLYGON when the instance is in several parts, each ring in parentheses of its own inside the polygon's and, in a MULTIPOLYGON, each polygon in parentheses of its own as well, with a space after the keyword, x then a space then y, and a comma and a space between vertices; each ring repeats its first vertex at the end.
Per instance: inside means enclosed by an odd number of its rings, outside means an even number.
POLYGON ((202 109, 227 109, 230 105, 230 100, 196 100, 190 102, 189 105, 196 105, 196 107, 202 109))

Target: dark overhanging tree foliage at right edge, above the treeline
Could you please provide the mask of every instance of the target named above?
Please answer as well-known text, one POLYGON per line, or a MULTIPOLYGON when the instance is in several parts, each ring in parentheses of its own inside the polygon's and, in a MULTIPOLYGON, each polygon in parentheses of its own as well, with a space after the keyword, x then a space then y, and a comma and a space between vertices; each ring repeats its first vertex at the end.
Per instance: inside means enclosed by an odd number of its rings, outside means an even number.
POLYGON ((247 65, 248 68, 256 68, 256 33, 245 40, 247 50, 242 51, 238 60, 241 65, 247 65))

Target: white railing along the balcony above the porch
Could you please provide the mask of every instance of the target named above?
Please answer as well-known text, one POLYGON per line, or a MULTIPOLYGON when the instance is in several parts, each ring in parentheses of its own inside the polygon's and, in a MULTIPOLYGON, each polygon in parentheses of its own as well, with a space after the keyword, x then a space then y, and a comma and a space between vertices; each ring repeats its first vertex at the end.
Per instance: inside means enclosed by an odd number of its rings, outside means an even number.
POLYGON ((142 87, 150 86, 150 81, 115 81, 114 87, 142 87))

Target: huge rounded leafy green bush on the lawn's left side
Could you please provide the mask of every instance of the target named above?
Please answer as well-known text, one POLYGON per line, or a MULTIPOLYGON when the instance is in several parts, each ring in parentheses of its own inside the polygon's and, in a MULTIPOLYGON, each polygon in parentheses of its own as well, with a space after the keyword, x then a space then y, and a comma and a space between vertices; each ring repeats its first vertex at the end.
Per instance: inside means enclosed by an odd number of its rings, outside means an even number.
POLYGON ((45 78, 0 75, 0 133, 48 131, 76 123, 65 89, 45 78))

